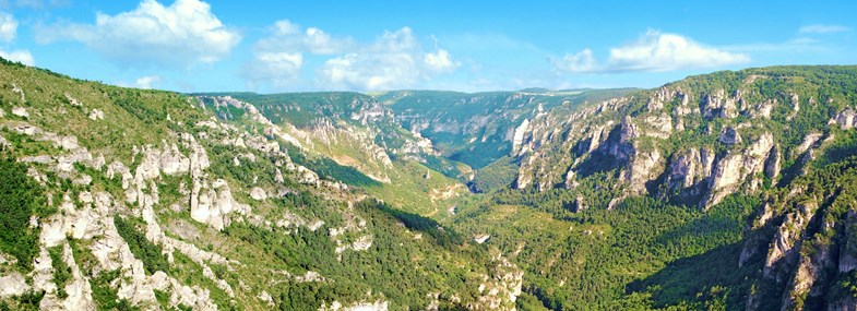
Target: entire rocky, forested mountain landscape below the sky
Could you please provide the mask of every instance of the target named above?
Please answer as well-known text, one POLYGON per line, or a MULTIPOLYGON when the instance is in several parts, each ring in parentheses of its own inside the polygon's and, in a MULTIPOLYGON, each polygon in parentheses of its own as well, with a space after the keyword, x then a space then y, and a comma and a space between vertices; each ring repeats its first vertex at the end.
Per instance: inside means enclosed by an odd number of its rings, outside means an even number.
POLYGON ((857 308, 857 67, 475 94, 0 79, 0 308, 857 308))

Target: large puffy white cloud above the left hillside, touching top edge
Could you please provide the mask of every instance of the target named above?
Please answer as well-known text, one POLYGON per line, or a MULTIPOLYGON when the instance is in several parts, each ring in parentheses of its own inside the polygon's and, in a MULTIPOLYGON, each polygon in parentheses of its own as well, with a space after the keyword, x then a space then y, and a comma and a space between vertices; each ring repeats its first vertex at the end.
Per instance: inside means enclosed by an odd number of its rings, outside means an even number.
POLYGON ((224 26, 205 2, 176 0, 165 7, 144 0, 130 12, 97 13, 95 24, 38 27, 36 39, 80 41, 124 65, 192 65, 225 58, 240 35, 224 26))

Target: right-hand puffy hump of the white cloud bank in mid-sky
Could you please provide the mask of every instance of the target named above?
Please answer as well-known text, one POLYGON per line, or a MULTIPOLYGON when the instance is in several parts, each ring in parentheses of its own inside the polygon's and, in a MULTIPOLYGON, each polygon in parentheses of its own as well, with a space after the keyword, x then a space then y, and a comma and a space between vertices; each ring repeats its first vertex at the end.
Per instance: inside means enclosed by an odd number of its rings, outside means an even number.
POLYGON ((374 44, 328 60, 320 83, 326 87, 382 91, 407 88, 459 67, 449 51, 424 51, 408 27, 385 32, 374 44))

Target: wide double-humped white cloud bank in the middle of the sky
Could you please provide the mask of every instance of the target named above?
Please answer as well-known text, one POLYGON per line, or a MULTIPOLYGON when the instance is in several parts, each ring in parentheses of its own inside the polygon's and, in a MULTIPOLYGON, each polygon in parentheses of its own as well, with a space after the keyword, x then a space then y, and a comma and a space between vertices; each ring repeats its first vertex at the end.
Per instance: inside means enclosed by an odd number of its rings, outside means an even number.
POLYGON ((328 89, 391 89, 409 87, 454 71, 445 49, 427 51, 408 27, 384 32, 373 43, 360 44, 316 27, 276 22, 271 35, 253 45, 253 59, 241 70, 251 85, 282 88, 298 82, 305 55, 328 56, 316 73, 318 87, 328 89))

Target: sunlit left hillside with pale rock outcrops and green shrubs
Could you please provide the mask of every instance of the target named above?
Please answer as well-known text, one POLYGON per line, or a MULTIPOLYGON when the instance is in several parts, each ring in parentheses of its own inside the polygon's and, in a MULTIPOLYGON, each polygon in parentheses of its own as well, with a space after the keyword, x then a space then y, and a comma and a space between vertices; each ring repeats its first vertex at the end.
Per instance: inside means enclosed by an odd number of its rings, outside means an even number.
POLYGON ((520 279, 513 264, 435 220, 319 177, 293 160, 305 154, 247 104, 229 103, 243 105, 233 112, 245 118, 226 121, 201 97, 8 62, 0 80, 8 215, 0 307, 512 303, 504 295, 520 279))

